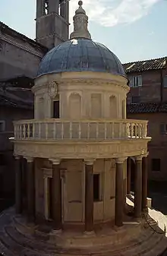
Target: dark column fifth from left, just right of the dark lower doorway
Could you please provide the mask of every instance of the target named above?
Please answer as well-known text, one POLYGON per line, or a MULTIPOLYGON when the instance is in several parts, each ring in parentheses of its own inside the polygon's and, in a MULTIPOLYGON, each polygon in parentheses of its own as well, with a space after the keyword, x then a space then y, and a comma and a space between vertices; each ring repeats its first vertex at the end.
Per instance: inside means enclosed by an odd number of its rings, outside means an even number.
POLYGON ((124 160, 126 158, 117 158, 115 173, 115 225, 123 225, 124 216, 124 160))

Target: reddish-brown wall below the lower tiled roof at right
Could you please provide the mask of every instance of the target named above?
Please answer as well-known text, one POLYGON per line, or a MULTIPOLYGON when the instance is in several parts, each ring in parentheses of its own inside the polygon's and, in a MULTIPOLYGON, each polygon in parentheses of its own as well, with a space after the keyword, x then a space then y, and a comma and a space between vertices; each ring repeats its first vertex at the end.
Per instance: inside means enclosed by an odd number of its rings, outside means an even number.
POLYGON ((152 140, 148 144, 149 179, 156 181, 167 181, 167 134, 160 133, 160 125, 167 123, 167 113, 128 113, 128 119, 149 120, 148 134, 152 137, 152 140), (159 172, 153 172, 153 159, 160 159, 159 172))

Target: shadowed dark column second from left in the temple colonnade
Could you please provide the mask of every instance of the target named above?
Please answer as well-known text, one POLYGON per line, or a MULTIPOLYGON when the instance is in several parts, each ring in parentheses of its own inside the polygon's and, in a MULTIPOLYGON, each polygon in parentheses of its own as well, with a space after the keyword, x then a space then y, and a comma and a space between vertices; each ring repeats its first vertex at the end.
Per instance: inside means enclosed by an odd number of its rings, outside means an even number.
POLYGON ((33 168, 33 157, 25 157, 27 160, 27 218, 35 220, 35 172, 33 168))

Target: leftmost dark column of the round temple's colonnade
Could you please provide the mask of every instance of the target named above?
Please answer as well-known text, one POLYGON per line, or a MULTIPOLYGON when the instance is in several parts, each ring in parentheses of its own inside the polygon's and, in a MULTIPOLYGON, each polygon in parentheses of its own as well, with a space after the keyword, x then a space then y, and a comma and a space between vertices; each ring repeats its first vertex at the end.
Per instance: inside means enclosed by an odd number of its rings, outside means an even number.
POLYGON ((21 169, 20 169, 20 156, 15 157, 15 207, 16 213, 20 214, 22 212, 21 204, 21 169))

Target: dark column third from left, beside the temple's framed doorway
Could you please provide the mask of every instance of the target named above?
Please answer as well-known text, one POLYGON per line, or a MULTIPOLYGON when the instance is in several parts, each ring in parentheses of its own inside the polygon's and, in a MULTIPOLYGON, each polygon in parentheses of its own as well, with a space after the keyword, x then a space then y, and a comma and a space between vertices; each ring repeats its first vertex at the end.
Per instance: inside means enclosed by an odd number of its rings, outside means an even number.
POLYGON ((61 169, 59 159, 52 159, 52 219, 54 229, 60 231, 62 229, 61 221, 61 169))

